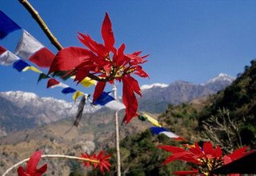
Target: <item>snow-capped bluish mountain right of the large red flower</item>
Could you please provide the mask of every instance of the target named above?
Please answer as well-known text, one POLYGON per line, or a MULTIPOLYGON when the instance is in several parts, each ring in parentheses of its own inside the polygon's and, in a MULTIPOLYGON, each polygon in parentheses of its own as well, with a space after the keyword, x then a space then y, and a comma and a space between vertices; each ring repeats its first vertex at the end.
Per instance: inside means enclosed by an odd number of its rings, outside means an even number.
POLYGON ((192 82, 177 81, 166 84, 152 84, 141 86, 142 98, 139 98, 140 110, 162 112, 168 104, 178 105, 190 102, 194 98, 202 98, 209 94, 217 93, 234 81, 228 74, 219 74, 206 83, 194 84, 192 82))

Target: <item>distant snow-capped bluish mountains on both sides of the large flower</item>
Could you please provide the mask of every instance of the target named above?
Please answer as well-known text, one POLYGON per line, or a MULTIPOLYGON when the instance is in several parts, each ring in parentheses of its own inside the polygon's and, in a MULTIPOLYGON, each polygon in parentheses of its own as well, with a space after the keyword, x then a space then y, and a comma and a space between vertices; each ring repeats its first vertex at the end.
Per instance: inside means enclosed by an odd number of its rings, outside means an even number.
MULTIPOLYGON (((142 86, 142 98, 139 98, 139 110, 161 113, 168 104, 177 105, 214 94, 229 86, 234 78, 219 74, 204 84, 191 82, 173 82, 170 85, 153 84, 142 86)), ((8 91, 0 93, 0 136, 11 131, 25 130, 57 122, 63 118, 74 117, 78 103, 66 102, 55 98, 40 98, 34 93, 8 91)), ((100 107, 86 106, 84 114, 94 113, 100 107)))

